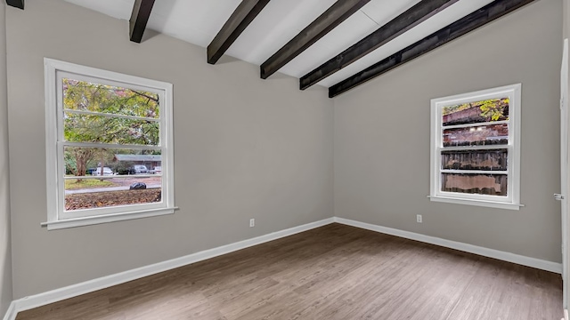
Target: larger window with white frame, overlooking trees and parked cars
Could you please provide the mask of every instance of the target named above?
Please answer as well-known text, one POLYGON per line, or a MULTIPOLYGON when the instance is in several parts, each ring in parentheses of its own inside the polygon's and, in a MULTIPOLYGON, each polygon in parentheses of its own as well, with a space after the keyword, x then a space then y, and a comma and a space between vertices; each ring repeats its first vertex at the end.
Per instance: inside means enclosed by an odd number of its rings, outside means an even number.
POLYGON ((172 112, 172 84, 45 59, 44 225, 173 213, 172 112))

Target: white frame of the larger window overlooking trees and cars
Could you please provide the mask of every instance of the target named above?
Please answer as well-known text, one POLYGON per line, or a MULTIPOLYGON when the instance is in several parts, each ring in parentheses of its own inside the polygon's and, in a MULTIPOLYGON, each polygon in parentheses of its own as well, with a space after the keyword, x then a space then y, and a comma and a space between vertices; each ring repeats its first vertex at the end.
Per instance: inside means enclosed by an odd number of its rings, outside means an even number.
MULTIPOLYGON (((119 220, 171 214, 175 212, 174 154, 173 154, 173 85, 166 82, 128 76, 98 68, 85 67, 65 61, 44 59, 45 65, 45 163, 48 230, 74 228, 119 220), (154 92, 159 95, 160 145, 162 160, 162 201, 150 204, 127 204, 66 212, 63 149, 63 77, 99 84, 154 92)), ((118 145, 119 146, 119 145, 118 145)), ((85 147, 96 147, 85 144, 85 147)), ((109 146, 105 146, 109 147, 109 146)), ((144 147, 140 147, 144 148, 144 147)))

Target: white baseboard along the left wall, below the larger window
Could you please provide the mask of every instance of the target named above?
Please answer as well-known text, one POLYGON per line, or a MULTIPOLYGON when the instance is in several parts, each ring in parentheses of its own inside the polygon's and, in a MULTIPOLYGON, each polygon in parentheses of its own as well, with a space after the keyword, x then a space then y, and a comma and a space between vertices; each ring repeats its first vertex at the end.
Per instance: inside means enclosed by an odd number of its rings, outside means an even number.
POLYGON ((102 276, 100 278, 85 281, 80 284, 72 284, 67 287, 55 289, 50 292, 43 292, 19 300, 14 300, 12 301, 11 304, 11 308, 13 305, 12 308, 13 315, 11 316, 10 313, 7 313, 6 316, 4 316, 4 320, 14 320, 17 312, 28 310, 30 308, 45 306, 46 304, 69 299, 81 294, 109 288, 110 286, 113 285, 124 284, 126 282, 142 278, 144 276, 151 276, 159 272, 167 271, 173 268, 183 267, 201 260, 207 260, 226 253, 245 249, 256 244, 264 244, 266 242, 276 240, 284 236, 291 236, 299 232, 307 231, 313 228, 319 228, 328 225, 332 222, 333 218, 307 223, 302 226, 273 232, 265 236, 257 236, 255 238, 243 240, 234 244, 223 245, 214 249, 192 253, 187 256, 176 258, 173 260, 166 260, 142 268, 134 268, 132 270, 120 272, 115 275, 102 276))

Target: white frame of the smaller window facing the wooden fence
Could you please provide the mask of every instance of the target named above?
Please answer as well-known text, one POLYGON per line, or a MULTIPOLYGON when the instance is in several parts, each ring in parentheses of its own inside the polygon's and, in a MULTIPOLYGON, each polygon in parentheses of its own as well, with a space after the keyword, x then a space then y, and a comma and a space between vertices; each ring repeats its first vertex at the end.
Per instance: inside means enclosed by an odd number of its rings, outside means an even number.
POLYGON ((520 114, 521 84, 511 84, 477 92, 468 92, 431 100, 431 156, 430 195, 431 201, 479 205, 492 208, 519 210, 520 204, 520 114), (501 146, 444 148, 442 108, 480 100, 509 98, 509 144, 501 146), (442 191, 441 172, 444 149, 493 149, 506 148, 509 152, 507 172, 507 196, 477 195, 442 191))

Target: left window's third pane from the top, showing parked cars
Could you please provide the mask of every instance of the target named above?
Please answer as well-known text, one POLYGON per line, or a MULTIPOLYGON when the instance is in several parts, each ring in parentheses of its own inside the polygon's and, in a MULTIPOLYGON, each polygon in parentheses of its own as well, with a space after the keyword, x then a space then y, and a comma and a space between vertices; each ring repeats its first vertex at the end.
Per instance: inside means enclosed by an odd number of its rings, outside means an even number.
POLYGON ((63 160, 68 177, 162 173, 162 156, 157 150, 65 147, 63 160))

